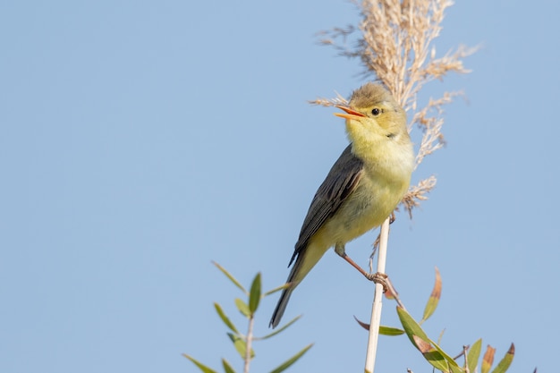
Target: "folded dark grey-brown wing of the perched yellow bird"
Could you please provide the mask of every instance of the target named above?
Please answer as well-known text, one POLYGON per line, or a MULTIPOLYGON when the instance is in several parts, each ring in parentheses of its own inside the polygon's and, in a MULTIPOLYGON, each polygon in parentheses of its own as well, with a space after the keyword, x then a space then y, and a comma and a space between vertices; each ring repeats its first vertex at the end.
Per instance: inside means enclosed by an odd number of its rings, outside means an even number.
POLYGON ((319 186, 311 206, 305 216, 298 242, 295 244, 293 260, 304 250, 313 234, 325 224, 327 219, 333 215, 343 204, 344 199, 354 190, 360 181, 363 162, 352 154, 352 144, 344 149, 343 154, 338 157, 335 165, 327 174, 325 181, 319 186))

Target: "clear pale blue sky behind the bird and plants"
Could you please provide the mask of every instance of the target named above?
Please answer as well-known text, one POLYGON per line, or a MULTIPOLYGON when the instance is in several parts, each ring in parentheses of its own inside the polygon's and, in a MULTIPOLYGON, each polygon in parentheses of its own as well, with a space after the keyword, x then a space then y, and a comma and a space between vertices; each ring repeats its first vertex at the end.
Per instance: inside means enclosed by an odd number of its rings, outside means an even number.
MULTIPOLYGON (((446 148, 414 175, 437 189, 397 216, 387 271, 451 353, 479 337, 513 369, 556 369, 559 332, 560 5, 457 2, 437 52, 481 45, 445 108, 446 148)), ((241 371, 212 302, 262 272, 282 284, 301 221, 344 149, 344 123, 307 100, 348 96, 357 61, 316 32, 356 24, 345 1, 0 4, 0 370, 196 371, 181 353, 241 371)), ((350 243, 367 264, 376 233, 350 243)), ((293 294, 283 335, 255 346, 267 371, 307 343, 293 372, 361 371, 371 284, 328 252, 293 294)), ((261 306, 267 332, 276 297, 261 306)), ((386 301, 384 324, 395 325, 386 301)), ((379 371, 429 368, 381 337, 379 371)))

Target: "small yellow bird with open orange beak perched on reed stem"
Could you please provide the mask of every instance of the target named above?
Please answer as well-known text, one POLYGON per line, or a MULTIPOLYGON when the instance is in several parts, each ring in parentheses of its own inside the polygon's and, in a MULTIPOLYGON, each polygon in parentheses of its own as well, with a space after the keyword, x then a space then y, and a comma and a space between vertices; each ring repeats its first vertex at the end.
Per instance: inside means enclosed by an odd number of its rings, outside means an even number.
MULTIPOLYGON (((406 113, 382 85, 367 83, 352 93, 345 113, 350 145, 318 188, 305 216, 290 267, 295 260, 270 326, 276 327, 290 295, 323 254, 346 256, 344 244, 381 225, 403 199, 414 167, 406 113)), ((369 277, 369 276, 368 276, 369 277)), ((370 278, 370 277, 369 277, 370 278)))

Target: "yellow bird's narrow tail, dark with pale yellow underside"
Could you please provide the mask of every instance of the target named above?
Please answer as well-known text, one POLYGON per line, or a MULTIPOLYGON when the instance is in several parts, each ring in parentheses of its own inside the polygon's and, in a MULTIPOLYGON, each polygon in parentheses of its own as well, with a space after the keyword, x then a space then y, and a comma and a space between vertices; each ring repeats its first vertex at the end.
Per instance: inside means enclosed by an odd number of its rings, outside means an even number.
POLYGON ((318 260, 321 259, 328 248, 325 250, 321 249, 318 247, 308 247, 305 250, 300 251, 297 259, 295 259, 292 270, 290 271, 290 276, 288 276, 288 280, 286 281, 286 283, 289 283, 290 285, 285 288, 282 295, 280 295, 280 299, 278 300, 278 304, 276 304, 276 309, 272 314, 272 318, 270 318, 270 324, 268 324, 268 326, 274 328, 280 324, 280 319, 284 315, 284 310, 288 305, 288 301, 290 300, 293 290, 301 283, 301 280, 303 280, 303 277, 310 272, 311 268, 317 264, 318 260))

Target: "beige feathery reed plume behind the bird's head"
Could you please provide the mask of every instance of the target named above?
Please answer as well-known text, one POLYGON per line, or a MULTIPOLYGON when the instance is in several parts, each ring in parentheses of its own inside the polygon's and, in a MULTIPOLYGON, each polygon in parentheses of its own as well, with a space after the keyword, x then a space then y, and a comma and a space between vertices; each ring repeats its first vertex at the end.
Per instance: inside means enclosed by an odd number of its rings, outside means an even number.
MULTIPOLYGON (((409 132, 416 126, 422 132, 416 166, 424 157, 445 145, 441 131, 444 124, 443 106, 453 101, 461 92, 444 92, 442 97, 430 98, 424 107, 418 107, 417 96, 424 84, 442 80, 449 72, 468 73, 462 59, 473 54, 477 48, 464 46, 436 56, 432 42, 439 36, 444 12, 453 4, 450 0, 385 0, 353 1, 361 13, 359 28, 352 25, 322 31, 320 43, 335 47, 340 55, 359 58, 365 77, 374 76, 391 90, 396 101, 412 117, 409 132), (348 39, 360 31, 353 47, 348 39), (342 39, 342 44, 339 41, 342 39), (410 115, 412 112, 412 116, 410 115)), ((322 106, 340 105, 344 97, 318 98, 312 104, 322 106)), ((404 196, 403 208, 412 218, 412 209, 436 186, 435 176, 429 176, 412 185, 404 196)))

